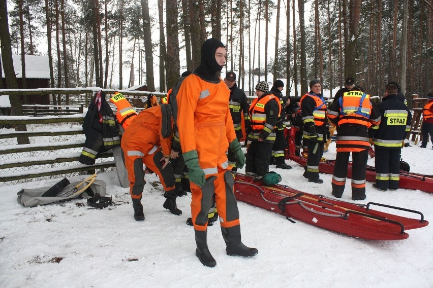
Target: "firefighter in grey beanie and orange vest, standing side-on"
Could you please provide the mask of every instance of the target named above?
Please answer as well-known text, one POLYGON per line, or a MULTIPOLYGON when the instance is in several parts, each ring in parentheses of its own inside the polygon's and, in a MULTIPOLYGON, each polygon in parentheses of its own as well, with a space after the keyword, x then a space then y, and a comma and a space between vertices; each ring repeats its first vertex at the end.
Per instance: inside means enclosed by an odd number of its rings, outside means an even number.
POLYGON ((306 170, 303 174, 308 182, 323 183, 319 178, 319 162, 323 156, 326 142, 327 117, 326 103, 321 94, 322 84, 319 80, 310 81, 310 92, 301 98, 301 116, 303 122, 303 146, 308 150, 306 170))

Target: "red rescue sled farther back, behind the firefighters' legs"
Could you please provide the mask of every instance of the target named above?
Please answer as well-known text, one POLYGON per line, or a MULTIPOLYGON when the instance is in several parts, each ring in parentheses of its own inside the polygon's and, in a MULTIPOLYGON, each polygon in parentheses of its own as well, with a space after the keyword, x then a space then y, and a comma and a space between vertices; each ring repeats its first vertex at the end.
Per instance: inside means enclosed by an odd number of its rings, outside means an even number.
MULTIPOLYGON (((286 129, 287 130, 287 129, 286 129)), ((289 129, 292 130, 292 129, 289 129)), ((294 130, 293 130, 294 132, 294 130)), ((286 134, 289 149, 286 151, 286 159, 290 159, 304 167, 306 165, 306 158, 302 156, 296 156, 295 145, 293 144, 292 131, 288 131, 286 134), (288 135, 287 135, 288 134, 288 135), (293 151, 292 151, 293 150, 293 151)), ((319 172, 326 174, 334 173, 335 160, 325 160, 319 163, 319 172)), ((352 162, 349 161, 347 167, 347 177, 352 178, 352 162)), ((369 182, 376 182, 376 168, 367 165, 366 180, 369 182)), ((399 188, 421 190, 428 193, 433 193, 433 175, 424 175, 419 173, 407 172, 400 170, 400 182, 399 188)))

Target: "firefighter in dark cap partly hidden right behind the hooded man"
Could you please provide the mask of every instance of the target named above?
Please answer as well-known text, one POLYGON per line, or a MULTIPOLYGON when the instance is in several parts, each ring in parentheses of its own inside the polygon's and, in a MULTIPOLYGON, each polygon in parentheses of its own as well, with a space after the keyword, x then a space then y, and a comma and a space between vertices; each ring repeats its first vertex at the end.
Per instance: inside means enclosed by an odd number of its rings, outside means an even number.
MULTIPOLYGON (((246 98, 246 95, 242 91, 242 89, 237 88, 236 74, 234 72, 229 71, 226 74, 226 78, 224 78, 224 83, 226 83, 227 87, 229 87, 230 89, 229 109, 236 132, 236 137, 238 141, 240 141, 240 139, 243 138, 241 127, 242 118, 244 120, 245 127, 250 126, 250 119, 248 118, 250 104, 248 103, 248 99, 246 98)), ((229 165, 233 167, 232 171, 236 171, 236 156, 230 149, 227 151, 227 158, 229 161, 229 165)))

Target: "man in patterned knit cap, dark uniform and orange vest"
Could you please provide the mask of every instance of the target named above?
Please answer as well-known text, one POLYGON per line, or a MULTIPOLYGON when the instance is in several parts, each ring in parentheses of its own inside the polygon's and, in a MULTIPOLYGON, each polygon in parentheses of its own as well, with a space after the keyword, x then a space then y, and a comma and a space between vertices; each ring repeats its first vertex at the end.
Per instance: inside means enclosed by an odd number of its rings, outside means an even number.
POLYGON ((280 99, 268 90, 266 81, 257 83, 257 98, 250 105, 251 122, 246 131, 245 172, 257 178, 269 171, 275 125, 281 112, 280 99))

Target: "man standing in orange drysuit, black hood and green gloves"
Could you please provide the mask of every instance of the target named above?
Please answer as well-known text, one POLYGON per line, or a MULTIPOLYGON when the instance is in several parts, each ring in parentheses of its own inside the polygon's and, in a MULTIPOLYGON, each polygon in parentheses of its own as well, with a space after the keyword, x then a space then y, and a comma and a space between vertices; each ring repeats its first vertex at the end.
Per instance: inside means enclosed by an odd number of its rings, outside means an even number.
POLYGON ((214 38, 201 47, 201 62, 185 78, 177 93, 177 122, 183 159, 191 183, 191 215, 197 244, 196 256, 208 267, 217 262, 207 246, 208 211, 215 196, 227 255, 251 257, 256 248, 241 242, 239 210, 233 194, 234 179, 227 161, 227 149, 235 154, 236 167, 245 164, 230 117, 230 90, 217 75, 226 62, 224 44, 214 38))

